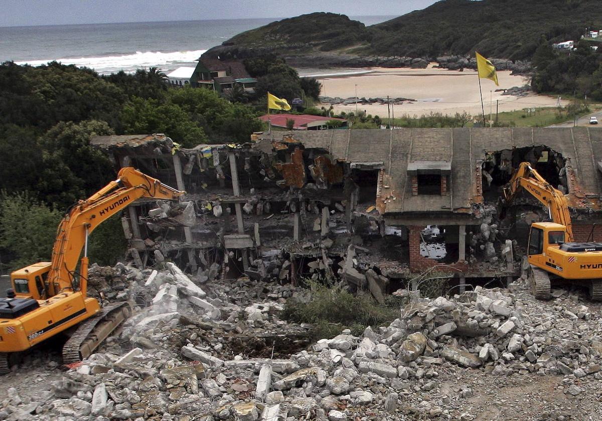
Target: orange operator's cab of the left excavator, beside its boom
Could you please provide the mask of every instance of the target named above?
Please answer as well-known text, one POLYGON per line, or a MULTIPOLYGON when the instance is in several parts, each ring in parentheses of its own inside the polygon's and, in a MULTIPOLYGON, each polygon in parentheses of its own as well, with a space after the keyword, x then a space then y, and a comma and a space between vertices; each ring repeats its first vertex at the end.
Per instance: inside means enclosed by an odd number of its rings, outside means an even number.
POLYGON ((17 298, 33 298, 46 300, 54 295, 54 286, 49 284, 48 275, 52 263, 40 262, 14 271, 10 274, 10 281, 17 298))

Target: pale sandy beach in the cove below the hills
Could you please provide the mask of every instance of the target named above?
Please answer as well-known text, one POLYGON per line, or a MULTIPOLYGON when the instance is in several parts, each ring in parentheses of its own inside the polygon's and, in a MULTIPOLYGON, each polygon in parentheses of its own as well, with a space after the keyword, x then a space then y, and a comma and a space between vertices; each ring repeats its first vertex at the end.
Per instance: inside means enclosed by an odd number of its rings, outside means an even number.
MULTIPOLYGON (((476 70, 465 69, 464 72, 447 69, 383 69, 373 68, 370 73, 358 75, 318 75, 316 78, 322 84, 323 96, 349 98, 361 97, 404 97, 415 99, 415 102, 396 105, 396 117, 404 114, 419 116, 432 112, 455 114, 467 111, 471 115, 481 114, 479 96, 479 79, 476 70)), ((332 73, 332 72, 324 72, 332 73)), ((556 106, 556 97, 529 94, 525 97, 502 95, 503 89, 529 84, 529 78, 510 76, 510 71, 497 72, 500 86, 488 79, 481 79, 485 114, 490 110, 495 114, 496 101, 499 101, 499 111, 515 111, 523 108, 538 108, 556 106), (495 91, 500 90, 500 91, 495 91)), ((565 101, 561 101, 565 105, 565 101)), ((353 111, 355 104, 335 105, 335 111, 353 111)), ((358 108, 368 114, 388 115, 385 105, 359 104, 358 108)))

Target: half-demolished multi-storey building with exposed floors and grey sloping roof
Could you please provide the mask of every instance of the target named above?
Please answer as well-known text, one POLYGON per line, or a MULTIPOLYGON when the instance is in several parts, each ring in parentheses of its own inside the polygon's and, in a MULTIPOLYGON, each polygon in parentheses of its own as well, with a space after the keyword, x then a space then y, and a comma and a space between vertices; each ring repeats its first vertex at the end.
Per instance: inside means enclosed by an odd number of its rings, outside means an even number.
POLYGON ((165 135, 94 137, 116 165, 187 191, 180 209, 138 201, 123 218, 138 266, 165 258, 202 278, 340 276, 388 290, 504 284, 520 273, 523 195, 501 186, 529 161, 569 198, 576 241, 602 241, 602 131, 591 128, 272 132, 183 149, 165 135))

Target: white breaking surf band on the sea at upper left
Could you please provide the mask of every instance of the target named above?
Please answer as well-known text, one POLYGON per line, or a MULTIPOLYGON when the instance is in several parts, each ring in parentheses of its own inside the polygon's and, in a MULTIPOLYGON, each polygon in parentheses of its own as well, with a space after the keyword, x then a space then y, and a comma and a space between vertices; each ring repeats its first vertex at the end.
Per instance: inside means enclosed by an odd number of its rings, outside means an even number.
POLYGON ((101 57, 80 58, 49 58, 46 60, 17 61, 16 64, 42 66, 49 61, 59 61, 63 64, 75 64, 80 67, 90 67, 99 73, 116 72, 117 70, 131 71, 142 67, 172 67, 177 63, 192 63, 206 50, 155 52, 137 51, 135 54, 106 55, 101 57))

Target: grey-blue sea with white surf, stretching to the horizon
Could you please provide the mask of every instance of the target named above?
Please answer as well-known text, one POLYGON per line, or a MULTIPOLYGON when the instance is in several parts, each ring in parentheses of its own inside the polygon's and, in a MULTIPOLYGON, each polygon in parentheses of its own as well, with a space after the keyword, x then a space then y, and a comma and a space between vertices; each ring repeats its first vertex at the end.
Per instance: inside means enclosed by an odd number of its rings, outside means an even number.
MULTIPOLYGON (((395 16, 350 16, 374 25, 395 16)), ((0 63, 40 66, 49 61, 90 67, 100 74, 195 66, 200 55, 240 32, 279 20, 223 19, 176 22, 0 27, 0 63)))

